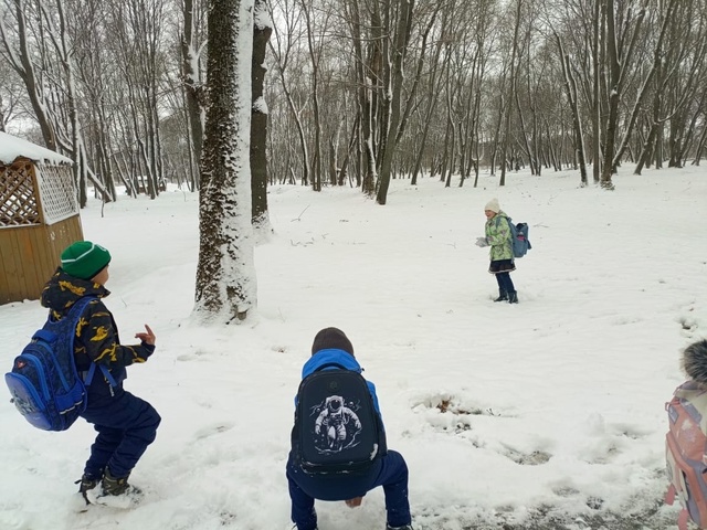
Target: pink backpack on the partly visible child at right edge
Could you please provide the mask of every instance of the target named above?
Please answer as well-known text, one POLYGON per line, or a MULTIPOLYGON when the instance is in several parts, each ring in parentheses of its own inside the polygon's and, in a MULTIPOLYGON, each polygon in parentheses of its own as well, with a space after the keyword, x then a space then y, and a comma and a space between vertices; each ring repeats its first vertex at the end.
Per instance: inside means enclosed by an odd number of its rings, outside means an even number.
POLYGON ((678 498, 683 507, 680 530, 687 530, 688 520, 707 529, 707 388, 695 381, 683 383, 665 410, 669 422, 665 459, 671 480, 665 501, 673 505, 678 498))

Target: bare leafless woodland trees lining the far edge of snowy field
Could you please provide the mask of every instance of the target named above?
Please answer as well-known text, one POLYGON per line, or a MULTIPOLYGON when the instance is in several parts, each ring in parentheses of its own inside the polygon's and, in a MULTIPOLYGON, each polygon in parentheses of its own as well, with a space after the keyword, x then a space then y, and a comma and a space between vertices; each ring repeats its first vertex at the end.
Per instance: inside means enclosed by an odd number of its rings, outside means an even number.
MULTIPOLYGON (((640 173, 699 163, 705 150, 704 0, 264 9, 254 202, 279 182, 351 186, 384 204, 394 178, 476 186, 487 170, 503 186, 521 167, 612 189, 624 160, 640 173)), ((205 0, 3 0, 0 127, 31 118, 35 139, 106 200, 114 182, 150 197, 163 181, 199 189, 205 15, 205 0)))

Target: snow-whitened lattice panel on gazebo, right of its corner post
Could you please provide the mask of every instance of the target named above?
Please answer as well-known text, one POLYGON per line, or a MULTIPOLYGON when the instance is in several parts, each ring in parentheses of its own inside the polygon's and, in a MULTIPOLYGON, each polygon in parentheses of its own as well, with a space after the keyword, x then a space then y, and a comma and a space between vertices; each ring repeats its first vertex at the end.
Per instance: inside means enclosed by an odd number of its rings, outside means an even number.
POLYGON ((39 166, 36 180, 45 224, 54 224, 78 213, 76 187, 68 166, 39 166))

